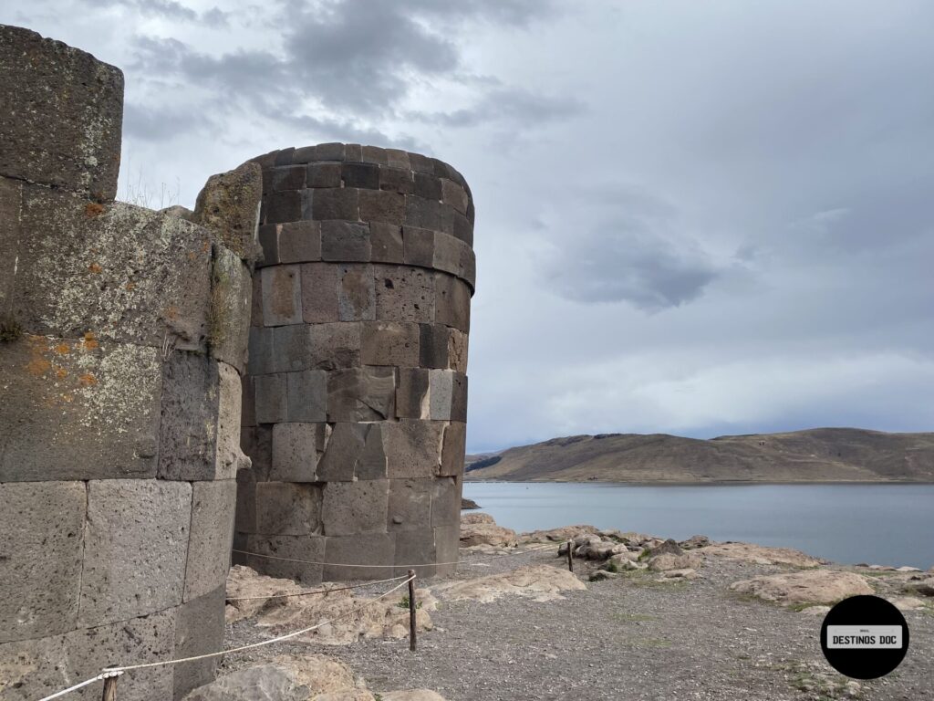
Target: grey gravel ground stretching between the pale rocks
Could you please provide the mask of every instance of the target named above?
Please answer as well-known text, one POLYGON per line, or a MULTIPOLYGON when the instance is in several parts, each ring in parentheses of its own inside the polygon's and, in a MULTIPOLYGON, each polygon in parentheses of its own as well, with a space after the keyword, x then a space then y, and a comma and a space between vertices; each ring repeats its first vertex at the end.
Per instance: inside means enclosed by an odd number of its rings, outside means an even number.
MULTIPOLYGON (((459 579, 528 563, 561 565, 531 553, 469 566, 459 579)), ((582 579, 585 566, 575 561, 582 579)), ((905 613, 911 648, 883 680, 850 683, 820 651, 822 616, 751 600, 731 582, 788 571, 708 558, 703 579, 658 583, 633 573, 587 584, 586 592, 536 603, 504 596, 490 604, 443 602, 435 630, 407 640, 350 646, 283 643, 275 651, 231 656, 228 670, 282 652, 319 652, 345 661, 375 691, 423 687, 450 701, 518 699, 930 698, 934 688, 934 611, 905 613)), ((425 586, 427 582, 422 582, 425 586)), ((227 644, 260 640, 250 622, 235 624, 227 644)))

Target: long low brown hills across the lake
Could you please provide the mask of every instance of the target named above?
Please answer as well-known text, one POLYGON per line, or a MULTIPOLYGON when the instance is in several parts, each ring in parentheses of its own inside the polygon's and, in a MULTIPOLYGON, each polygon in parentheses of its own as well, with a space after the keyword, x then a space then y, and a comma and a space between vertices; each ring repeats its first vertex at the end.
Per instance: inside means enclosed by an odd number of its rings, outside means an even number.
POLYGON ((468 480, 934 482, 934 433, 815 428, 709 440, 666 434, 552 438, 467 456, 468 480))

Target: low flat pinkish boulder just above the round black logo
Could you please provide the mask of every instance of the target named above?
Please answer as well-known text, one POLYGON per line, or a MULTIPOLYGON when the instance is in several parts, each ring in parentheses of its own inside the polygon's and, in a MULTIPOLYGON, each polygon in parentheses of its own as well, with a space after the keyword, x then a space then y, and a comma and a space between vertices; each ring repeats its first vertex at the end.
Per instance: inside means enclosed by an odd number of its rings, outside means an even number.
POLYGON ((752 594, 783 606, 793 604, 834 604, 848 596, 873 594, 865 577, 855 572, 816 569, 765 575, 733 582, 730 590, 752 594))

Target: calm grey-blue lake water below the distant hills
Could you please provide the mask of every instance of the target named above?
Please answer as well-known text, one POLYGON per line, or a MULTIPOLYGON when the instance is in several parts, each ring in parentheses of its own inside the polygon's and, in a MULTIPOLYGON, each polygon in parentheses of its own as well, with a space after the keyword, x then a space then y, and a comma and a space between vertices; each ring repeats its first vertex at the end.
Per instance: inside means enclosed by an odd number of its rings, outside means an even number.
POLYGON ((591 523, 656 536, 745 540, 839 563, 934 565, 934 485, 644 486, 466 482, 517 531, 591 523))

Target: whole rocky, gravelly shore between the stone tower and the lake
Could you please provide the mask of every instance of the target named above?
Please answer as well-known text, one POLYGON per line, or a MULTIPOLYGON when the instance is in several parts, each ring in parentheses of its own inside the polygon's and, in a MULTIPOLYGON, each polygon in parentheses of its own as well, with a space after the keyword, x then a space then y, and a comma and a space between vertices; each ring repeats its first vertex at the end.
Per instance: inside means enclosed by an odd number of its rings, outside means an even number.
POLYGON ((418 580, 415 652, 403 591, 285 597, 302 587, 234 567, 228 648, 344 617, 229 654, 189 700, 894 700, 934 685, 934 567, 587 525, 517 534, 483 513, 462 517, 461 547, 457 575, 418 580), (881 680, 842 677, 820 651, 824 613, 854 594, 887 598, 910 627, 904 662, 881 680))

